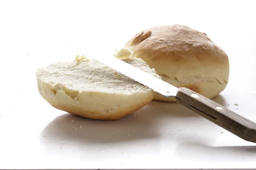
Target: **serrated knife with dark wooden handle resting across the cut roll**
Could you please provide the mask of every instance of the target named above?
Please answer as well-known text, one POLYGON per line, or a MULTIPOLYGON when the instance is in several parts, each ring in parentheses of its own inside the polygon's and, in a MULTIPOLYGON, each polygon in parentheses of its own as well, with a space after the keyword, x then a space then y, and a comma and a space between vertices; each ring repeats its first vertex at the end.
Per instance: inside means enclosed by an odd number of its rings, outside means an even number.
MULTIPOLYGON (((67 45, 78 50, 73 45, 67 45)), ((95 59, 102 64, 113 68, 131 79, 151 88, 165 97, 175 97, 176 102, 195 111, 205 119, 230 131, 236 136, 249 142, 256 143, 256 123, 243 116, 230 111, 224 106, 192 91, 188 88, 176 88, 175 86, 154 77, 139 68, 136 68, 116 57, 100 57, 99 55, 89 56, 82 51, 82 54, 95 59)))

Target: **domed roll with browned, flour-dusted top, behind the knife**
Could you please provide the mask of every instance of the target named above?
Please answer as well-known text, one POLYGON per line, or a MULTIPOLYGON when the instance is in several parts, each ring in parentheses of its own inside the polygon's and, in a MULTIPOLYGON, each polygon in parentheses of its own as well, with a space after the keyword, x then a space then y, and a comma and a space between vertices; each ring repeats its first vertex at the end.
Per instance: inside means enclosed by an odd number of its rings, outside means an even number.
MULTIPOLYGON (((189 88, 209 99, 229 79, 229 58, 207 34, 188 26, 156 26, 135 34, 125 45, 160 77, 177 88, 189 88)), ((157 94, 160 101, 175 101, 157 94)))

